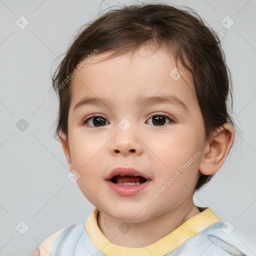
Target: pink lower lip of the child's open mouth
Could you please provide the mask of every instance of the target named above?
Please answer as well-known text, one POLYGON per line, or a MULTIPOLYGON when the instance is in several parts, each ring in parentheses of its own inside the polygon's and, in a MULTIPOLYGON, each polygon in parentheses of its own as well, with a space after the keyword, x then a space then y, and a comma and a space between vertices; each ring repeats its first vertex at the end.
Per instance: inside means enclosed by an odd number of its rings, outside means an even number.
POLYGON ((133 195, 144 189, 150 182, 150 179, 147 179, 145 182, 139 185, 118 185, 110 180, 106 180, 108 186, 116 193, 121 195, 133 195))

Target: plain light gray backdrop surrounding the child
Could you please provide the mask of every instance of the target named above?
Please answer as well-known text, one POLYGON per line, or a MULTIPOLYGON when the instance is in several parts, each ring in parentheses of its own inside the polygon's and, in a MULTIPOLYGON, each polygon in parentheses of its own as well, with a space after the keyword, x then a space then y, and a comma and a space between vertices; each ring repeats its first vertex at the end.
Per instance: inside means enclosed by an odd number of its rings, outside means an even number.
MULTIPOLYGON (((223 38, 234 85, 233 112, 242 134, 236 134, 231 154, 217 176, 195 193, 194 202, 230 221, 246 253, 256 255, 256 1, 161 2, 194 8, 223 38), (234 21, 228 29, 220 23, 226 15, 234 21)), ((51 91, 50 66, 76 29, 114 4, 0 0, 0 255, 28 255, 50 234, 85 220, 94 208, 66 177, 61 144, 52 136, 57 97, 48 100, 46 94, 51 91), (15 23, 21 15, 29 21, 24 29, 15 23), (23 131, 16 126, 21 118, 28 123, 23 131), (24 234, 22 220, 29 226, 24 234)))

